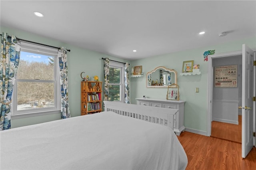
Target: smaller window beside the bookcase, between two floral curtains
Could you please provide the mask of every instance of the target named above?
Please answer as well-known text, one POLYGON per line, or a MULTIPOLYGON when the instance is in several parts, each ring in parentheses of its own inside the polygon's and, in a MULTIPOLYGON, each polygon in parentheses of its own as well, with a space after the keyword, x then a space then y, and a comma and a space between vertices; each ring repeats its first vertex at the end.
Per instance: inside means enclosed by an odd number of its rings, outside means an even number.
POLYGON ((108 100, 124 102, 124 64, 109 62, 108 100))

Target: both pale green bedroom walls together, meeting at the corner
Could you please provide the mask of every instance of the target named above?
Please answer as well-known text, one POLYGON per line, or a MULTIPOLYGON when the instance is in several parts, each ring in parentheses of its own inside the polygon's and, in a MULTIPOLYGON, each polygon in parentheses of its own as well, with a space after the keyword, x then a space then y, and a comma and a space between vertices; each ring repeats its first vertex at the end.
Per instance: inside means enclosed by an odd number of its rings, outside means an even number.
MULTIPOLYGON (((28 32, 6 28, 1 26, 0 32, 14 34, 18 38, 33 42, 44 43, 56 47, 65 46, 71 51, 68 52, 68 99, 72 117, 80 115, 80 73, 84 75, 98 75, 103 81, 103 60, 102 57, 109 57, 112 60, 126 62, 124 59, 112 57, 103 53, 90 51, 72 44, 58 42, 53 39, 44 38, 28 32)), ((244 40, 233 41, 230 43, 218 44, 210 47, 191 49, 159 55, 155 57, 128 61, 130 67, 142 65, 144 77, 130 77, 130 102, 136 104, 136 98, 146 95, 149 98, 165 99, 166 88, 146 88, 146 73, 155 67, 164 66, 178 71, 178 85, 180 86, 180 100, 186 101, 184 110, 184 125, 186 129, 194 130, 200 134, 206 134, 207 129, 207 81, 208 81, 208 62, 203 61, 204 51, 215 49, 216 53, 242 50, 245 43, 252 49, 256 49, 256 38, 246 38, 244 40), (180 76, 183 61, 194 60, 200 64, 201 75, 180 76), (195 93, 195 88, 199 87, 199 93, 195 93)), ((60 114, 35 116, 30 118, 12 119, 12 128, 25 125, 32 125, 47 121, 60 119, 60 114)))

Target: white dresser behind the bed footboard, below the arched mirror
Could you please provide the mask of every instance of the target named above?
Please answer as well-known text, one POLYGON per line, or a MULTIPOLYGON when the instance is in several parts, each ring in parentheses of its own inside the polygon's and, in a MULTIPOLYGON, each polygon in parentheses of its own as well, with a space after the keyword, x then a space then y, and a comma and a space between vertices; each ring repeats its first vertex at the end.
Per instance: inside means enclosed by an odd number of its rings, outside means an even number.
POLYGON ((178 109, 178 113, 174 115, 174 132, 180 136, 180 133, 185 130, 184 127, 184 104, 185 101, 179 100, 166 100, 166 99, 150 99, 150 98, 138 98, 137 105, 164 107, 170 109, 178 109))

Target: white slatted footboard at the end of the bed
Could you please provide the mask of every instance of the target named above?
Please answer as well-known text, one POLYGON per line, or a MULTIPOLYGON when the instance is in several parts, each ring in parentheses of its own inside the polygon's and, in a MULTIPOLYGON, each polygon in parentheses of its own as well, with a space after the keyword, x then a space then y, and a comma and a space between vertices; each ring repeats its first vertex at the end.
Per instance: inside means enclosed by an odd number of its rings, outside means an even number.
POLYGON ((178 109, 167 109, 143 105, 134 105, 114 101, 104 101, 104 111, 113 111, 119 115, 174 128, 174 115, 178 109))

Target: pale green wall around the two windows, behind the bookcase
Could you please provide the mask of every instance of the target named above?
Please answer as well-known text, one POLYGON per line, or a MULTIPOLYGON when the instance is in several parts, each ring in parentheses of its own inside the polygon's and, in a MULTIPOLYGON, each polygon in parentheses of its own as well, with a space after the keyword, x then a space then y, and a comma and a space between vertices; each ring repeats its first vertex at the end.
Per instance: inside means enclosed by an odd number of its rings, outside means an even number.
MULTIPOLYGON (((52 45, 55 47, 64 46, 71 51, 68 52, 68 99, 70 105, 71 117, 80 116, 80 82, 82 81, 80 77, 81 72, 85 72, 83 75, 89 75, 90 77, 98 75, 100 81, 104 81, 104 61, 103 58, 108 57, 109 59, 126 62, 124 59, 117 57, 112 57, 103 53, 91 51, 88 49, 83 49, 76 47, 72 44, 58 42, 53 39, 44 38, 29 32, 22 30, 17 30, 13 28, 7 28, 4 26, 0 27, 0 32, 6 32, 9 35, 14 34, 17 38, 29 40, 32 42, 43 43, 47 45, 52 45)), ((65 36, 65 35, 64 35, 65 36)), ((48 121, 54 121, 60 119, 60 114, 50 114, 43 116, 34 116, 21 119, 12 119, 12 128, 21 127, 26 125, 33 125, 37 123, 43 123, 48 121)))

